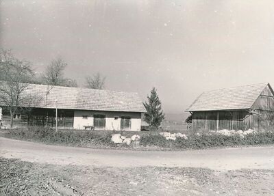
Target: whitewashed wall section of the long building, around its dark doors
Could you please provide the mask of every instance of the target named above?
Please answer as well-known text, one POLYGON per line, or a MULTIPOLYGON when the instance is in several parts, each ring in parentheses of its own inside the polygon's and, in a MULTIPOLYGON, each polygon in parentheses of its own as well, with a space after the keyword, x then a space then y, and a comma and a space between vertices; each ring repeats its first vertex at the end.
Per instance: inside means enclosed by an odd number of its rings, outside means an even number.
POLYGON ((113 111, 75 111, 73 128, 84 129, 84 126, 94 126, 93 115, 105 115, 105 130, 120 130, 121 117, 123 116, 131 118, 131 126, 129 130, 140 130, 141 113, 113 111), (83 116, 87 116, 87 118, 85 119, 83 116), (117 120, 115 120, 114 117, 118 117, 117 120))

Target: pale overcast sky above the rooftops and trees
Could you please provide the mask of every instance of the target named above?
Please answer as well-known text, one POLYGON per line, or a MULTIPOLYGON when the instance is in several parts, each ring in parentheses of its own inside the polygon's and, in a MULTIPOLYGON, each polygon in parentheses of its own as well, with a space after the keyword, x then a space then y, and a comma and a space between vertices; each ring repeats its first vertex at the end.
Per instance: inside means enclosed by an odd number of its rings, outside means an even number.
POLYGON ((0 0, 0 44, 43 71, 54 57, 84 84, 156 87, 166 113, 182 113, 203 91, 274 85, 274 1, 0 0))

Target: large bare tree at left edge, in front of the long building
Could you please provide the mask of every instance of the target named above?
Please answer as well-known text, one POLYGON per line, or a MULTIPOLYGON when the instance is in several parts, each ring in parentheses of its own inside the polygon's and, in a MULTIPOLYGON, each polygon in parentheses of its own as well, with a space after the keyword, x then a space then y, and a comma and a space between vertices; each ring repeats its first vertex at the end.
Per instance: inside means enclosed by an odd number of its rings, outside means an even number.
POLYGON ((33 72, 29 62, 20 61, 10 51, 3 50, 0 51, 0 70, 0 105, 10 112, 10 126, 13 126, 14 114, 29 103, 29 95, 24 92, 33 72))

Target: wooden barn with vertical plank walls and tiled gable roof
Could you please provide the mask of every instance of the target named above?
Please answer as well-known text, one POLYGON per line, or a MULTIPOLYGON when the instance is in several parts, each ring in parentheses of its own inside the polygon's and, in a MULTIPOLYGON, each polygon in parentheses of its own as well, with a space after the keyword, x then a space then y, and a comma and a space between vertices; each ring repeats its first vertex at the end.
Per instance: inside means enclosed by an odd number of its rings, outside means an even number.
POLYGON ((192 130, 271 130, 274 92, 269 83, 203 92, 186 111, 192 130))

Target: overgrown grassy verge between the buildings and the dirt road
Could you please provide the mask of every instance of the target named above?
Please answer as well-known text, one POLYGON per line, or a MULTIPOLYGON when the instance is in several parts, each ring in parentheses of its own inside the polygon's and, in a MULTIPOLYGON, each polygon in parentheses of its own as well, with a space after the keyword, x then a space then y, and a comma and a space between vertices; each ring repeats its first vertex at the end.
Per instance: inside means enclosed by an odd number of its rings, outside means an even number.
POLYGON ((221 135, 204 132, 201 134, 188 134, 188 139, 177 137, 176 140, 167 140, 159 132, 119 132, 121 135, 131 137, 140 135, 138 145, 116 144, 111 141, 111 131, 90 130, 58 130, 43 127, 29 127, 14 130, 5 130, 1 135, 12 139, 38 141, 61 145, 73 145, 90 148, 123 148, 123 149, 153 149, 153 150, 184 150, 204 149, 216 147, 234 147, 244 145, 272 145, 274 132, 254 132, 249 135, 221 135))

